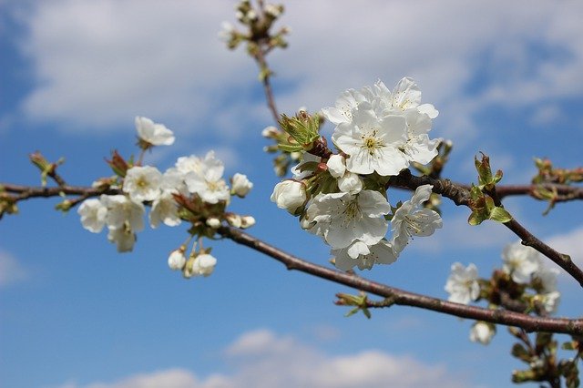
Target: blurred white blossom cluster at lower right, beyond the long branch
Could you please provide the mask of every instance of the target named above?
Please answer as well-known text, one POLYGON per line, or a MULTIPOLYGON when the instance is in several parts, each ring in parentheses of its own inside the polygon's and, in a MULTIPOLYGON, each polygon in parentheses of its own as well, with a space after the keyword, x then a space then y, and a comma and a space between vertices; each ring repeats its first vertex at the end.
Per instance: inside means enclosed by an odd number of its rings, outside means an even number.
MULTIPOLYGON (((473 263, 467 267, 459 262, 452 264, 451 274, 445 283, 448 301, 468 304, 470 301, 486 300, 491 308, 497 308, 509 298, 518 301, 525 311, 535 311, 538 315, 557 311, 560 300, 558 270, 545 266, 537 250, 517 241, 506 245, 502 260, 502 269, 494 271, 489 280, 478 278, 473 263)), ((476 322, 472 326, 470 340, 487 344, 495 333, 494 324, 476 322)))

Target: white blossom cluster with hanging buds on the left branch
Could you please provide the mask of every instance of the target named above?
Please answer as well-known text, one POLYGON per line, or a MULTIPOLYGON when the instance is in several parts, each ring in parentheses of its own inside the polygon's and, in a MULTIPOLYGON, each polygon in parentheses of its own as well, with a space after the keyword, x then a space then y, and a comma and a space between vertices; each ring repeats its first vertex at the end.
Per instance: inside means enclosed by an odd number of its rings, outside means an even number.
MULTIPOLYGON (((154 146, 171 145, 175 140, 169 128, 147 117, 136 117, 136 129, 142 153, 154 146)), ((120 252, 132 250, 137 233, 144 230, 146 207, 151 208, 148 214, 151 228, 158 228, 161 223, 175 227, 182 221, 189 222, 189 240, 196 235, 212 237, 223 221, 236 228, 249 228, 255 223, 251 216, 225 211, 232 195, 245 197, 253 184, 238 173, 230 179, 229 187, 223 179, 223 163, 213 151, 204 158, 180 157, 163 173, 156 167, 142 166, 139 161, 127 162, 117 153, 109 164, 117 175, 97 180, 94 187, 104 191, 118 189, 119 194, 86 199, 77 212, 85 229, 99 233, 107 227, 107 239, 120 252)), ((210 256, 210 250, 195 247, 196 242, 189 260, 185 256, 186 243, 173 250, 169 255, 170 269, 182 271, 187 278, 210 275, 216 259, 210 256)))

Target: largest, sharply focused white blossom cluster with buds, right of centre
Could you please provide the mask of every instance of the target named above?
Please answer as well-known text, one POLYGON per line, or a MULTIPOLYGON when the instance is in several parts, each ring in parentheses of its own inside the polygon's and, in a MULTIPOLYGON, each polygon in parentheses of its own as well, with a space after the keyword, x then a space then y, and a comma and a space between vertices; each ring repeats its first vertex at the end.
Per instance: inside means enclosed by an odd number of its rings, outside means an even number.
MULTIPOLYGON (((417 188, 411 199, 395 207, 387 199, 390 177, 437 155, 438 140, 430 139, 428 132, 438 112, 431 104, 421 104, 421 91, 411 78, 403 78, 392 91, 381 81, 359 91, 346 90, 334 107, 322 109, 322 115, 335 126, 336 153, 322 151, 322 142, 321 147, 305 148, 314 138, 311 128, 317 127, 317 119, 310 121, 305 112, 297 118, 300 125, 281 121, 304 152, 292 168, 293 178, 277 184, 271 200, 299 216, 304 230, 331 246, 336 267, 348 271, 390 264, 412 237, 441 228, 439 214, 424 207, 432 186, 417 188), (386 236, 389 223, 392 237, 386 236)), ((283 147, 293 149, 290 144, 283 147)))

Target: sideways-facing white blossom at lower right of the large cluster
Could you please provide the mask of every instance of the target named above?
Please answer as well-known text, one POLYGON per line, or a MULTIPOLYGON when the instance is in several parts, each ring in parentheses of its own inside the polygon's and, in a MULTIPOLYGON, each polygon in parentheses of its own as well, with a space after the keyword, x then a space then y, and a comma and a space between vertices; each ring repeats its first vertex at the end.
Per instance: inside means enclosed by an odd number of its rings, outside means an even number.
POLYGON ((431 185, 419 186, 411 199, 394 212, 391 225, 393 229, 393 245, 397 252, 404 250, 413 236, 426 237, 434 234, 442 227, 441 217, 435 210, 426 209, 423 203, 431 195, 431 185))

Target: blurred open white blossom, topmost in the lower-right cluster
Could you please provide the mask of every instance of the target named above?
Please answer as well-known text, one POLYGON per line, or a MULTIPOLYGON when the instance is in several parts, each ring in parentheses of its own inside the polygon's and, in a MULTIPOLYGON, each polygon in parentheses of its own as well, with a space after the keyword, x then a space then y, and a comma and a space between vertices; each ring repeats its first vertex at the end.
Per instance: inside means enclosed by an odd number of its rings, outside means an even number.
POLYGON ((520 241, 504 247, 502 260, 504 260, 502 270, 518 284, 530 283, 532 275, 538 271, 540 266, 537 250, 522 245, 520 241))

